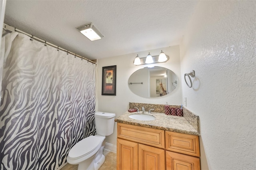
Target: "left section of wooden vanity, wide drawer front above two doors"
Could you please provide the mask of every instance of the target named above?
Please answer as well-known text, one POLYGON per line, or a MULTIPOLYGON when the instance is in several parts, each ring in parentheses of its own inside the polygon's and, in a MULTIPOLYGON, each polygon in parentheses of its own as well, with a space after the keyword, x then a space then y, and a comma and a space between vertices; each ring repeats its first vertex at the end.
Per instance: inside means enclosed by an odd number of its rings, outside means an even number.
POLYGON ((165 170, 164 130, 117 123, 117 170, 165 170))

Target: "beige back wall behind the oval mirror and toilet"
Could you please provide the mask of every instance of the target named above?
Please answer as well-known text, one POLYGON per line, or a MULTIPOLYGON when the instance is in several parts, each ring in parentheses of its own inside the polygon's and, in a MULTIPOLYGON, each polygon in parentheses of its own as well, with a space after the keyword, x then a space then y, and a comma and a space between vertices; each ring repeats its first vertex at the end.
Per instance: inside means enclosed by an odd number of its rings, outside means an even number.
MULTIPOLYGON (((143 98, 132 93, 128 87, 128 79, 132 73, 140 68, 146 67, 145 65, 136 66, 133 64, 133 61, 138 54, 140 57, 146 57, 148 52, 152 56, 159 55, 161 50, 164 51, 170 59, 166 63, 155 64, 160 67, 166 67, 172 70, 178 77, 180 82, 180 48, 178 45, 171 47, 163 47, 160 49, 154 49, 149 51, 141 51, 138 53, 132 53, 122 56, 110 57, 105 59, 98 59, 97 61, 97 72, 98 80, 96 83, 97 86, 97 111, 105 111, 110 113, 116 113, 116 117, 122 115, 129 108, 129 102, 135 103, 153 103, 153 104, 165 104, 166 101, 172 105, 181 105, 181 85, 169 95, 158 97, 158 98, 143 98), (116 70, 116 96, 104 96, 101 95, 101 86, 102 86, 102 67, 117 65, 116 70)), ((141 108, 140 108, 141 110, 141 108)), ((116 123, 114 134, 106 137, 106 142, 116 146, 116 123)))

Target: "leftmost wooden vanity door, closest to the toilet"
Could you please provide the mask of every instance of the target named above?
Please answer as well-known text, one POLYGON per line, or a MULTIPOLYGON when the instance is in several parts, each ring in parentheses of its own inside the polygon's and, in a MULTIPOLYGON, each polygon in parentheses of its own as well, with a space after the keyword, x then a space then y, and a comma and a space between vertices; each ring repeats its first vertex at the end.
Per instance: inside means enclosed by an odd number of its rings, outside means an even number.
POLYGON ((117 138, 117 170, 138 170, 138 143, 117 138))

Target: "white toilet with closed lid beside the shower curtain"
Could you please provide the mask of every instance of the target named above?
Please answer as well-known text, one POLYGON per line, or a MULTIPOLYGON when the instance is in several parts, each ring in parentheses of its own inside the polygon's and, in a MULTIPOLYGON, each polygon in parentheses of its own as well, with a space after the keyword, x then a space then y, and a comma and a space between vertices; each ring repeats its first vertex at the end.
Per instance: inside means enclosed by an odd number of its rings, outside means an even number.
POLYGON ((80 140, 70 149, 69 164, 78 164, 78 170, 98 170, 102 166, 105 138, 114 132, 115 116, 114 113, 95 113, 96 135, 80 140))

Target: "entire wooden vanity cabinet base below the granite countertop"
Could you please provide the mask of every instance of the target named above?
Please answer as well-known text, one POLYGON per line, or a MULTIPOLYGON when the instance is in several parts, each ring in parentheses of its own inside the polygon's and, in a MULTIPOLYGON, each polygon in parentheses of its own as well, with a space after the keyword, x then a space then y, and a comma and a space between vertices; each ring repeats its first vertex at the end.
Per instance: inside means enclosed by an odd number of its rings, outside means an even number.
POLYGON ((200 170, 195 135, 117 123, 117 170, 200 170))

